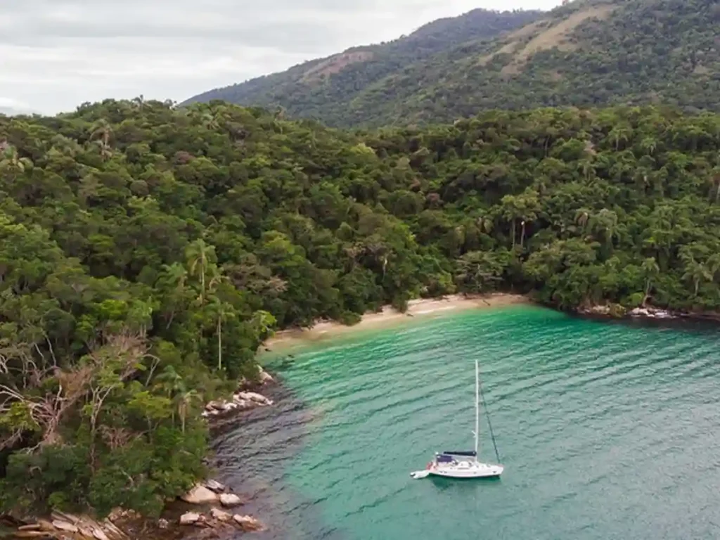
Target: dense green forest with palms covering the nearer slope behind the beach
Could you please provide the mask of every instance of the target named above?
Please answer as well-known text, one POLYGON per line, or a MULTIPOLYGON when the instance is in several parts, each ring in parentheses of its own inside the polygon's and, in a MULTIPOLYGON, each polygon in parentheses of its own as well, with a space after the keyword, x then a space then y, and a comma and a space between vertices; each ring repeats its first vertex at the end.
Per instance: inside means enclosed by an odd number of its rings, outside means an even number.
POLYGON ((720 309, 720 116, 349 134, 221 103, 0 117, 0 510, 145 513, 272 328, 513 289, 720 309))

